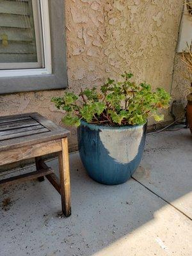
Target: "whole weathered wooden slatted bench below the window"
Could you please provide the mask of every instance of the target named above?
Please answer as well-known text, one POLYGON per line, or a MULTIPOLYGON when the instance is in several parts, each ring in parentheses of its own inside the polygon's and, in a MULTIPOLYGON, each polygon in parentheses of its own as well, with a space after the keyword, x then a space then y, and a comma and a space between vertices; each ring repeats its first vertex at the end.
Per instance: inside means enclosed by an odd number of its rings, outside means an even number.
POLYGON ((24 180, 44 180, 44 176, 61 195, 62 211, 70 216, 70 173, 68 140, 70 132, 38 113, 0 117, 0 165, 35 157, 36 171, 0 180, 0 185, 24 180), (58 153, 60 179, 42 156, 58 153))

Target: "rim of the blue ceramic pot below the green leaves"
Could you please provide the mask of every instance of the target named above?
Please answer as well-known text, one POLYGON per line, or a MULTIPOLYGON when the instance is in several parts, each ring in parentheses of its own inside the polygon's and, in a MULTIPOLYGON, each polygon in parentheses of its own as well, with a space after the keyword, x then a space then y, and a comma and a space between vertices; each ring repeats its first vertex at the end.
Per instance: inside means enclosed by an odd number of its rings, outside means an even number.
POLYGON ((90 129, 93 130, 127 130, 127 129, 136 129, 136 128, 140 128, 143 127, 144 125, 146 125, 147 122, 145 122, 145 124, 141 124, 141 125, 125 125, 125 126, 107 126, 107 125, 96 125, 96 124, 89 124, 88 122, 81 120, 81 125, 84 126, 88 126, 90 129))

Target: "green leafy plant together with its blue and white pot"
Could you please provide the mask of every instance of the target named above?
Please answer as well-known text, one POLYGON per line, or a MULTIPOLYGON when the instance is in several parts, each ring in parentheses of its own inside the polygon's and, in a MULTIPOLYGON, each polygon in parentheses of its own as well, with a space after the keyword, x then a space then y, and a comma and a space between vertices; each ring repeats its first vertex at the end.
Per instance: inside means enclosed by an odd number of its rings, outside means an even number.
POLYGON ((159 109, 168 108, 170 95, 163 88, 136 84, 125 72, 120 81, 108 79, 99 88, 53 97, 66 111, 62 121, 76 125, 81 161, 92 179, 121 184, 138 168, 145 146, 147 118, 163 120, 159 109))

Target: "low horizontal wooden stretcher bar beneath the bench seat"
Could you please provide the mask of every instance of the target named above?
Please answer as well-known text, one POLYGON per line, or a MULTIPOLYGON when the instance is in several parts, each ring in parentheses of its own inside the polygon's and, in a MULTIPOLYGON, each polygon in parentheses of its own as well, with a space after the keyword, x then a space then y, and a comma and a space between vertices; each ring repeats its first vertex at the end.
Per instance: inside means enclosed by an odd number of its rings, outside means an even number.
POLYGON ((49 168, 47 170, 44 169, 44 170, 38 170, 35 172, 24 173, 21 175, 17 175, 15 177, 10 177, 8 179, 0 180, 0 186, 3 186, 3 185, 7 186, 7 185, 15 184, 17 182, 33 180, 33 179, 36 179, 36 178, 44 176, 44 175, 51 175, 51 173, 53 173, 53 170, 51 170, 51 168, 49 168))

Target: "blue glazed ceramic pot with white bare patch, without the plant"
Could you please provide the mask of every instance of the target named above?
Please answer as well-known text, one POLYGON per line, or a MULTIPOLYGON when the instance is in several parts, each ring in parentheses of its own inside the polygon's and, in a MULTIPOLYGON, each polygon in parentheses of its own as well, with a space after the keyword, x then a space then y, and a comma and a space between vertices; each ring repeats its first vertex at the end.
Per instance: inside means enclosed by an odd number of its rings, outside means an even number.
POLYGON ((81 121, 77 138, 88 175, 107 185, 127 181, 140 164, 146 132, 147 124, 109 127, 81 121))

